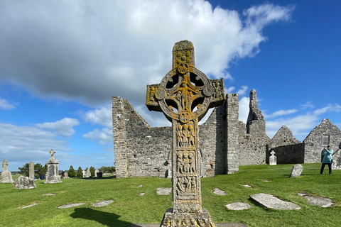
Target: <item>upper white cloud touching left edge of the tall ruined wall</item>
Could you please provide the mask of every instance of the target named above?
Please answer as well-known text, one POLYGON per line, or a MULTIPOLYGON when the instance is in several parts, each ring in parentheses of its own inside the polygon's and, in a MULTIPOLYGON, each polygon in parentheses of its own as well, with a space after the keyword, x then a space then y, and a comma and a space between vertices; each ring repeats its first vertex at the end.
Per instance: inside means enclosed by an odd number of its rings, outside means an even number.
POLYGON ((112 128, 112 104, 81 114, 85 122, 97 123, 112 128))

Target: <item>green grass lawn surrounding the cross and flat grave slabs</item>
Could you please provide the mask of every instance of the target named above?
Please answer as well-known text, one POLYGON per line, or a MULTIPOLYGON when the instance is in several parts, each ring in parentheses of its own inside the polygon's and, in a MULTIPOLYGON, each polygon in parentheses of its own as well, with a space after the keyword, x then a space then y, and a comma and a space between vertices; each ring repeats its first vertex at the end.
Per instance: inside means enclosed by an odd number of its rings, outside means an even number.
MULTIPOLYGON (((320 164, 303 164, 301 177, 288 178, 293 165, 253 165, 239 167, 234 175, 202 178, 202 207, 208 209, 216 223, 242 222, 247 226, 341 226, 341 170, 328 175, 328 167, 320 176, 320 164), (269 182, 266 182, 268 180, 269 182), (244 187, 244 184, 252 188, 244 187), (227 193, 219 196, 214 188, 227 193), (305 192, 325 196, 335 203, 323 208, 312 206, 298 196, 305 192), (264 209, 253 204, 249 196, 266 193, 301 206, 299 210, 264 209), (251 209, 230 211, 225 204, 242 201, 251 209)), ((45 181, 45 180, 44 180, 45 181)), ((171 187, 171 179, 126 178, 63 179, 60 184, 36 181, 37 189, 14 189, 0 184, 0 226, 115 226, 130 223, 161 223, 172 196, 159 196, 158 187, 171 187), (143 187, 138 187, 143 184, 143 187), (139 196, 145 192, 144 196, 139 196), (53 193, 55 196, 43 196, 53 193), (113 199, 108 206, 93 207, 97 201, 113 199), (38 203, 21 209, 22 206, 38 203), (85 203, 67 209, 58 206, 85 203)))

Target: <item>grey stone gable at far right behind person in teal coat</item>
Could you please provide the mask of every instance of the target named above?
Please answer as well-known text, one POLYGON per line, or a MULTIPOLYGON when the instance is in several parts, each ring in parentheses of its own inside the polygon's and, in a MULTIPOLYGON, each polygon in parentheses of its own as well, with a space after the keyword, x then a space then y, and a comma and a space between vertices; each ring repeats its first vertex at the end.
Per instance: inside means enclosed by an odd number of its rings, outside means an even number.
MULTIPOLYGON (((336 152, 341 143, 341 131, 335 124, 331 123, 329 119, 323 119, 320 125, 316 126, 303 140, 303 143, 305 144, 304 162, 320 162, 321 151, 328 142, 331 145, 332 150, 336 152), (329 141, 326 141, 326 143, 323 144, 323 137, 326 136, 329 136, 329 141)), ((341 151, 339 150, 333 155, 335 163, 333 163, 332 167, 338 170, 341 169, 340 152, 341 151)))

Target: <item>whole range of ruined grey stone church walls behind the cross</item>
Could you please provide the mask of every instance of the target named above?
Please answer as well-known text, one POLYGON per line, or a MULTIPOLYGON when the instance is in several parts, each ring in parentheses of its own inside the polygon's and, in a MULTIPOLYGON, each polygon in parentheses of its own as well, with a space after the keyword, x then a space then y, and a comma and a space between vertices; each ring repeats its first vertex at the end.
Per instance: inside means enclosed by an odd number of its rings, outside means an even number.
MULTIPOLYGON (((112 120, 117 178, 171 177, 171 127, 151 127, 129 101, 119 96, 112 97, 112 120)), ((239 165, 269 163, 271 150, 276 153, 277 164, 320 162, 320 151, 327 140, 337 151, 341 131, 328 119, 303 143, 286 126, 270 139, 256 91, 250 92, 246 124, 239 121, 239 95, 227 94, 224 105, 215 108, 199 126, 200 175, 232 174, 239 171, 239 165)), ((333 167, 340 169, 340 151, 334 159, 333 167)))

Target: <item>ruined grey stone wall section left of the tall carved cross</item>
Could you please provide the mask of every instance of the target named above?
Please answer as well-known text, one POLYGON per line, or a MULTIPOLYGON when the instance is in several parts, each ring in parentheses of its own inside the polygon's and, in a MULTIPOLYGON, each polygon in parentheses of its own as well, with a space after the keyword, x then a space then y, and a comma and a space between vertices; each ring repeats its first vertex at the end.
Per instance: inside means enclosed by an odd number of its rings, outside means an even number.
POLYGON ((117 177, 165 177, 171 127, 152 128, 121 97, 113 97, 112 107, 117 177))

